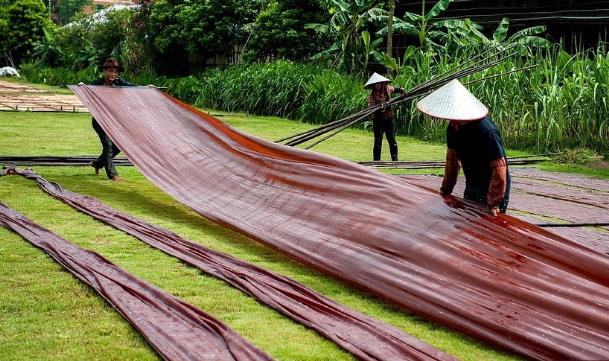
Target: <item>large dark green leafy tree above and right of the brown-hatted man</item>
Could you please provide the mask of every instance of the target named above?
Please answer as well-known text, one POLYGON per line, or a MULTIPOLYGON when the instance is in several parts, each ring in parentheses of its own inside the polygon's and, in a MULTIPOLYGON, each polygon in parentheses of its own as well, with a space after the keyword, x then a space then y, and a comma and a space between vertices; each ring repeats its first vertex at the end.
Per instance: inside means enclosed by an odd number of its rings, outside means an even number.
POLYGON ((164 74, 186 74, 189 60, 205 64, 216 55, 236 62, 236 47, 247 39, 244 27, 258 6, 252 0, 147 3, 136 16, 138 38, 152 67, 164 74))

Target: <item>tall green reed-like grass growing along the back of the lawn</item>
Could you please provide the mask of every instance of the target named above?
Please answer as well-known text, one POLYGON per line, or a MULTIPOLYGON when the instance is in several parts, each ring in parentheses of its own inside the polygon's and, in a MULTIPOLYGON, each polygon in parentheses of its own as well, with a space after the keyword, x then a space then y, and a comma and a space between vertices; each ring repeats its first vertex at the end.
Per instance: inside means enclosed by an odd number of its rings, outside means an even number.
MULTIPOLYGON (((413 54, 394 82, 406 89, 442 74, 467 59, 463 53, 413 54)), ((528 53, 462 79, 463 82, 536 64, 525 72, 468 85, 491 110, 491 116, 511 148, 554 151, 587 147, 609 154, 609 54, 602 49, 570 55, 558 47, 528 53)), ((57 70, 22 67, 30 81, 65 84, 57 70), (53 81, 59 78, 59 83, 53 81)), ((365 79, 315 65, 277 61, 235 65, 180 79, 149 74, 132 76, 140 84, 167 86, 167 91, 197 106, 257 115, 276 115, 310 123, 327 123, 366 106, 365 79)), ((74 79, 72 83, 82 81, 74 79)), ((446 124, 423 116, 416 102, 397 108, 398 132, 424 140, 442 141, 446 124)))

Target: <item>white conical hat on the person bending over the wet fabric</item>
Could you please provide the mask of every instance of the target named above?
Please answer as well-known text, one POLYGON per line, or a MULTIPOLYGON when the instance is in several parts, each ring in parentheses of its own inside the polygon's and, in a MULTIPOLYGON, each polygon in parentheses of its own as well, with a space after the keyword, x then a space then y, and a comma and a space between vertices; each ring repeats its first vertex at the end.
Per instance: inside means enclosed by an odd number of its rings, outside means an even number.
POLYGON ((448 120, 473 121, 488 114, 488 108, 457 79, 421 99, 417 108, 431 117, 448 120))

